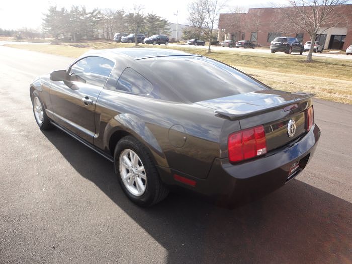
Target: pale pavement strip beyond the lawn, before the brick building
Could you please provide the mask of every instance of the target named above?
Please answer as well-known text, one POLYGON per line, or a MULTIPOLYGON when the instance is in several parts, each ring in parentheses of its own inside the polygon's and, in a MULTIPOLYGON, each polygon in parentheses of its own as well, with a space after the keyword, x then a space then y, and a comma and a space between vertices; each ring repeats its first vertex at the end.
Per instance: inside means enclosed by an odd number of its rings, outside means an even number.
MULTIPOLYGON (((181 45, 181 44, 168 44, 169 46, 174 47, 188 47, 188 48, 203 48, 208 49, 208 46, 194 46, 194 45, 181 45)), ((227 51, 238 51, 238 52, 257 52, 257 53, 271 53, 270 49, 251 49, 251 48, 229 48, 229 47, 221 47, 221 46, 211 46, 212 50, 227 50, 227 51)), ((277 54, 284 54, 283 52, 278 52, 277 54)), ((292 54, 299 55, 299 53, 294 52, 292 54)), ((302 56, 307 56, 308 52, 304 52, 302 56)), ((325 57, 325 58, 333 58, 333 59, 348 59, 352 60, 352 56, 345 54, 330 54, 330 53, 313 53, 313 56, 316 57, 325 57)), ((273 54, 275 56, 275 54, 273 54)))

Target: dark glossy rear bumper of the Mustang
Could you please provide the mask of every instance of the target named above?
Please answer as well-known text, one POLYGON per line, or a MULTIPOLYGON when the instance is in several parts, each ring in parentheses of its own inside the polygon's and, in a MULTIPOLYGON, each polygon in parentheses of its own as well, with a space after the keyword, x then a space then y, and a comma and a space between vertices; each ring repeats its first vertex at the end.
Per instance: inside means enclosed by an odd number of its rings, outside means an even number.
POLYGON ((314 125, 306 135, 290 145, 260 158, 239 164, 231 164, 227 158, 216 158, 204 180, 172 169, 166 173, 159 168, 159 172, 162 181, 168 186, 184 187, 216 200, 235 202, 253 199, 270 193, 295 178, 311 159, 319 137, 320 130, 314 125), (299 168, 289 177, 291 165, 296 161, 299 161, 299 168), (196 185, 193 187, 177 182, 173 179, 173 174, 193 180, 196 185))

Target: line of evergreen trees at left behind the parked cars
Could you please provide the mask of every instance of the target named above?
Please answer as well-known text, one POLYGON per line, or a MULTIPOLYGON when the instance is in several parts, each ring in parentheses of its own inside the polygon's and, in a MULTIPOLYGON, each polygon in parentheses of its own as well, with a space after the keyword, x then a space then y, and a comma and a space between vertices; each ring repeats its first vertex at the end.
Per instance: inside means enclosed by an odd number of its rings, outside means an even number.
POLYGON ((72 6, 58 9, 49 7, 44 14, 44 32, 55 40, 65 39, 73 42, 83 39, 111 40, 115 32, 169 34, 169 22, 155 14, 144 15, 140 7, 134 7, 133 12, 124 10, 95 8, 87 12, 84 6, 72 6))

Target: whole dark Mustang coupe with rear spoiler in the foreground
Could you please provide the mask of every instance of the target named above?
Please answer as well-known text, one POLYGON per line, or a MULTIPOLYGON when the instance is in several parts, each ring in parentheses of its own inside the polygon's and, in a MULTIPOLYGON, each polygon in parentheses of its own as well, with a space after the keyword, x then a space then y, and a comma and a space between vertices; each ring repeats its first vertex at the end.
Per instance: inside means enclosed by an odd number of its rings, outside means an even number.
POLYGON ((180 187, 230 202, 273 191, 304 169, 320 136, 311 95, 176 50, 91 51, 36 78, 30 97, 40 129, 114 162, 141 206, 180 187))

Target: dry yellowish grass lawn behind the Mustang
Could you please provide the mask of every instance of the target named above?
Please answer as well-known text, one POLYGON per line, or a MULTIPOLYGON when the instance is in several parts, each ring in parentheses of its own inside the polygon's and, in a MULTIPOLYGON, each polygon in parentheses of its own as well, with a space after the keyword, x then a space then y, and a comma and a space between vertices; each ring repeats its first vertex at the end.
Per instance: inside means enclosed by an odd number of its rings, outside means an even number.
MULTIPOLYGON (((8 45, 68 57, 78 57, 91 49, 126 48, 134 44, 115 42, 87 42, 63 45, 8 45)), ((236 49, 217 50, 145 45, 139 47, 167 48, 207 56, 236 67, 274 89, 303 91, 316 94, 317 98, 352 104, 352 60, 313 57, 306 63, 304 55, 238 52, 236 49)))

